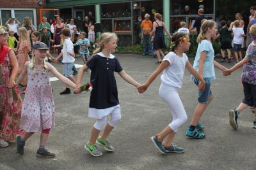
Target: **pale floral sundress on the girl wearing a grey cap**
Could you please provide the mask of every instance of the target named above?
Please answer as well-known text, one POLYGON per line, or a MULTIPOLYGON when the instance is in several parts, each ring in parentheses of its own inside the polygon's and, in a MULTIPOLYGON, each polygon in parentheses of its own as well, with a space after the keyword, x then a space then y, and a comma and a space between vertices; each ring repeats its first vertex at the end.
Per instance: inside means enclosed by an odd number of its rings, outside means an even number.
POLYGON ((33 69, 28 67, 28 85, 22 104, 20 128, 26 132, 51 129, 55 125, 54 120, 55 110, 49 71, 38 69, 33 74, 33 69))

